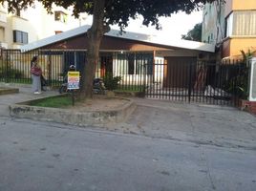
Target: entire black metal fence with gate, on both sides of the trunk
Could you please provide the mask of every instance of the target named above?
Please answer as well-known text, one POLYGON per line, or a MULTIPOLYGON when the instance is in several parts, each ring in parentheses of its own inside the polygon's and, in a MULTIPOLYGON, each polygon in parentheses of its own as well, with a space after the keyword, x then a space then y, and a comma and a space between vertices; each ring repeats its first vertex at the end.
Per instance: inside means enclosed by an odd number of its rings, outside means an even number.
MULTIPOLYGON (((0 81, 32 83, 33 55, 38 55, 49 86, 60 86, 70 65, 84 74, 85 51, 3 50, 0 81)), ((152 52, 100 53, 96 77, 103 78, 106 84, 117 83, 112 89, 140 92, 150 98, 235 105, 247 94, 248 67, 241 61, 216 63, 184 57, 157 60, 152 52)))

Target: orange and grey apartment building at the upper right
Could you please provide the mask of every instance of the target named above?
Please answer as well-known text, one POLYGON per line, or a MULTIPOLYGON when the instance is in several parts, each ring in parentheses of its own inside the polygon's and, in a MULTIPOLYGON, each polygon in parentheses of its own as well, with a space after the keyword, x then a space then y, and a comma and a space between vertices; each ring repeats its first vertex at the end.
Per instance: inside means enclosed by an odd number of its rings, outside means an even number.
POLYGON ((222 58, 235 58, 241 50, 256 51, 256 1, 216 1, 203 8, 203 42, 220 48, 222 58))

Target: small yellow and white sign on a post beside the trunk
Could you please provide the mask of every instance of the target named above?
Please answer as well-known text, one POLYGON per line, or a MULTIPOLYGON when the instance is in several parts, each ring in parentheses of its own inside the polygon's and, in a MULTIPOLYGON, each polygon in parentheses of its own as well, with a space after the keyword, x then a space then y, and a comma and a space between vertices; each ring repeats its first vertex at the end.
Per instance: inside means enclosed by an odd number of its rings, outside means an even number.
POLYGON ((79 82, 80 82, 80 73, 75 72, 68 72, 68 90, 72 91, 72 104, 75 105, 75 95, 74 90, 79 89, 79 82))

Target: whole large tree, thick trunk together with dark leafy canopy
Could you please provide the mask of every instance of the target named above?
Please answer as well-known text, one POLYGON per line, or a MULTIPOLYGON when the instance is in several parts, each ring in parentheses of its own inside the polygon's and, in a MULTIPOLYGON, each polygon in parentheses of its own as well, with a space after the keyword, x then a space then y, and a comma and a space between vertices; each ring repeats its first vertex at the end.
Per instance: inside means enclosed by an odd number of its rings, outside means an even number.
MULTIPOLYGON (((84 81, 81 89, 81 98, 92 96, 92 81, 98 62, 99 46, 103 34, 110 30, 110 25, 117 24, 120 31, 128 26, 131 18, 136 19, 142 15, 142 24, 156 26, 160 29, 160 16, 171 16, 172 13, 185 11, 190 13, 199 10, 203 4, 215 0, 37 0, 45 9, 51 12, 53 4, 65 9, 72 6, 74 15, 87 12, 93 15, 93 24, 87 32, 88 50, 87 64, 84 67, 84 81)), ((0 3, 8 2, 8 11, 14 12, 26 9, 34 5, 34 0, 0 0, 0 3)), ((175 26, 174 26, 175 28, 175 26)))

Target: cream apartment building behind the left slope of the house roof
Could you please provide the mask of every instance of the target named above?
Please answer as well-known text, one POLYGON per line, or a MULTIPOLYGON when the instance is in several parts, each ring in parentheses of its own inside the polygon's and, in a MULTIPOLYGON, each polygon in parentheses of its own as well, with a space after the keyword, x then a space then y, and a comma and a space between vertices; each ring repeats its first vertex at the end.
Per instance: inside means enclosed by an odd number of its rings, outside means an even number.
POLYGON ((83 25, 87 17, 84 13, 75 18, 72 8, 57 6, 49 14, 39 2, 26 11, 9 13, 7 8, 7 3, 0 5, 0 47, 6 49, 19 49, 24 44, 69 31, 83 25))

